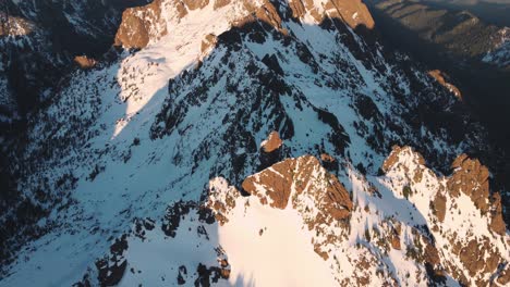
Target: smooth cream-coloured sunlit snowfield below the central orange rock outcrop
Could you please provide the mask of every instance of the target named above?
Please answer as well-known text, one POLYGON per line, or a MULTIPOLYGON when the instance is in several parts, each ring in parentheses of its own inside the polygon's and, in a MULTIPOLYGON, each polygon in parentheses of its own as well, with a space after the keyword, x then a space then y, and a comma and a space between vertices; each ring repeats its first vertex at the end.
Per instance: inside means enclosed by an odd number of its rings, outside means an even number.
MULTIPOLYGON (((243 201, 236 204, 242 207, 243 201)), ((290 208, 279 211, 252 200, 246 213, 234 211, 218 237, 235 266, 230 276, 244 278, 244 286, 336 285, 328 263, 311 248, 312 236, 290 208)))

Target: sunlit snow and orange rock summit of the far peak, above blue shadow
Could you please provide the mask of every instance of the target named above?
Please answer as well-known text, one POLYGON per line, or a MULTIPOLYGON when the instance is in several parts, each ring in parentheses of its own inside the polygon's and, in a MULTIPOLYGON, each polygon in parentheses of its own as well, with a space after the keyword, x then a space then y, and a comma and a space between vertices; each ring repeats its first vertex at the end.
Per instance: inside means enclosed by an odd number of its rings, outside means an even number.
MULTIPOLYGON (((350 2, 357 3, 347 1, 350 2)), ((127 9, 123 13, 116 45, 145 49, 123 60, 117 73, 122 87, 120 100, 125 101, 127 108, 125 115, 119 115, 112 137, 117 137, 133 115, 163 90, 169 78, 198 65, 216 47, 218 35, 254 22, 271 25, 286 33, 290 27, 287 27, 289 24, 282 26, 282 17, 288 17, 290 11, 295 13, 300 7, 298 3, 301 1, 157 0, 145 7, 127 9), (172 33, 169 34, 169 30, 172 33)), ((357 5, 366 10, 360 3, 357 5)), ((306 21, 313 11, 318 11, 321 15, 320 20, 308 23, 311 25, 319 25, 326 15, 343 21, 340 13, 350 13, 350 10, 343 9, 337 1, 306 1, 305 7, 305 10, 298 13, 296 20, 306 21)), ((363 13, 368 12, 366 10, 363 13)), ((351 25, 350 22, 347 23, 351 25)))

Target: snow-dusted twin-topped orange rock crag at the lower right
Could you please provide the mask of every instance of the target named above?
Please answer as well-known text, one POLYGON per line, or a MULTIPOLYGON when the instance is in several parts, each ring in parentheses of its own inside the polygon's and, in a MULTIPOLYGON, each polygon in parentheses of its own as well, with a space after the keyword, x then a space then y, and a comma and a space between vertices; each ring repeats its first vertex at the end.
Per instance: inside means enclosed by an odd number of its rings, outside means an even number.
MULTIPOLYGON (((429 209, 432 234, 428 229, 426 236, 417 229, 414 232, 425 245, 424 262, 433 266, 440 264, 463 285, 486 286, 498 273, 498 265, 506 264, 508 255, 503 251, 508 250, 508 242, 500 196, 494 192, 489 200, 487 167, 461 154, 452 164, 452 175, 440 177, 424 164, 423 158, 411 148, 394 147, 382 165, 387 175, 400 174, 397 182, 412 190, 403 196, 413 204, 433 198, 428 207, 418 208, 423 213, 429 209), (448 253, 451 255, 445 255, 448 253), (452 258, 460 264, 454 264, 452 258)), ((421 245, 414 242, 414 246, 421 245)))

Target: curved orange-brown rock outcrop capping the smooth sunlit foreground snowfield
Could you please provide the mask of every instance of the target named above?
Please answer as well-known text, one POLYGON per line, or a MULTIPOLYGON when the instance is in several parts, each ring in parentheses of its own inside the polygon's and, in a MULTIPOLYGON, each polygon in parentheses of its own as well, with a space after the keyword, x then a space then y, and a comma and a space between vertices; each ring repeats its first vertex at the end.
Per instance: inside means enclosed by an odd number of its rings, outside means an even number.
POLYGON ((348 224, 353 203, 343 185, 312 155, 287 159, 248 176, 243 190, 260 203, 286 209, 290 202, 309 230, 317 234, 314 251, 324 260, 343 234, 335 228, 348 224))

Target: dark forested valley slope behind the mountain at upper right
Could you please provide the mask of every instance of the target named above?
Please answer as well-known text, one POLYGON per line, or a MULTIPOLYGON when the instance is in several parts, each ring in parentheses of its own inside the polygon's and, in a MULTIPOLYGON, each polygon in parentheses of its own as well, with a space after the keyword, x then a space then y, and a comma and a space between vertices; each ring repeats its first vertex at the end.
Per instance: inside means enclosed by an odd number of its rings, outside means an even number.
POLYGON ((483 61, 497 47, 502 27, 486 24, 466 11, 438 9, 416 1, 368 1, 387 46, 411 54, 429 70, 451 76, 464 103, 501 150, 499 166, 510 178, 510 71, 483 61), (503 155, 506 154, 506 155, 503 155))

